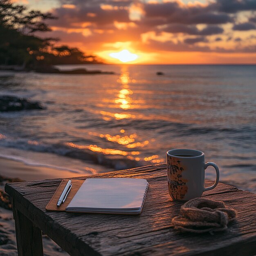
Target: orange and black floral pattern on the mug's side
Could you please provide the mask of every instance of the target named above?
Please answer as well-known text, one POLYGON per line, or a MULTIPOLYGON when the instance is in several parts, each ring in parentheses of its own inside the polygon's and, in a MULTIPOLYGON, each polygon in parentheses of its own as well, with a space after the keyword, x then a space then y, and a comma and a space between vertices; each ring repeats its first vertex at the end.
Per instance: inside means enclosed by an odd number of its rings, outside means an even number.
POLYGON ((167 177, 168 177, 168 190, 172 198, 182 200, 188 191, 186 186, 187 180, 182 178, 182 172, 185 166, 182 166, 180 160, 173 157, 167 159, 167 177))

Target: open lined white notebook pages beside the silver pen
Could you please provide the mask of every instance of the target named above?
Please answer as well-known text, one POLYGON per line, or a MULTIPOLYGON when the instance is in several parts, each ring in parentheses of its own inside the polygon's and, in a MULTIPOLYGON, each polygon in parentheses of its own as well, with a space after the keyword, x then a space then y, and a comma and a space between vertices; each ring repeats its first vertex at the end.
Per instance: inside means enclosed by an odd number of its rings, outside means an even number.
POLYGON ((66 211, 85 213, 141 213, 148 182, 133 178, 88 178, 66 211))

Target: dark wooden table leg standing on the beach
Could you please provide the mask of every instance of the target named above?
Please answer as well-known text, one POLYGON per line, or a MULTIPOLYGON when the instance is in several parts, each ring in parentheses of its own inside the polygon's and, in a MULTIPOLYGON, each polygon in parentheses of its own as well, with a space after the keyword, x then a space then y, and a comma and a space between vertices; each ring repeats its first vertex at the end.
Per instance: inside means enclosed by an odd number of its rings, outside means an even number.
POLYGON ((18 256, 43 256, 42 231, 12 203, 18 256))

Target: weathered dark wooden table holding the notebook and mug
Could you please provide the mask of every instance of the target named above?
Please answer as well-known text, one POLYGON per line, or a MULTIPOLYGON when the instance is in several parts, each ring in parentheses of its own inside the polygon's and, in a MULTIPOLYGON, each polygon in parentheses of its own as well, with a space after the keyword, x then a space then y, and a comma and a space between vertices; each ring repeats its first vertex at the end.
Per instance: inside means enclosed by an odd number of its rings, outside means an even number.
POLYGON ((173 201, 168 195, 165 164, 94 176, 148 180, 142 213, 129 216, 47 212, 45 206, 61 179, 6 184, 5 191, 13 199, 19 255, 43 256, 41 230, 73 256, 256 254, 256 194, 219 183, 203 197, 222 200, 227 207, 236 209, 237 221, 223 233, 180 234, 171 227, 171 219, 179 213, 182 202, 173 201))

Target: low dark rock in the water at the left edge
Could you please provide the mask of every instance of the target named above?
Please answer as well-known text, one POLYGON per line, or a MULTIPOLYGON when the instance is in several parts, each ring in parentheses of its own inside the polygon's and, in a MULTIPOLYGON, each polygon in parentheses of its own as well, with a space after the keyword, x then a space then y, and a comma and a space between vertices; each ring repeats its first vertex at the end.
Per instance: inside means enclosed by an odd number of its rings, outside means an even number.
POLYGON ((37 101, 29 101, 13 96, 0 96, 0 111, 18 111, 28 109, 44 109, 37 101))

